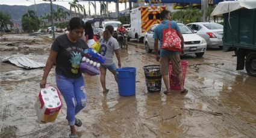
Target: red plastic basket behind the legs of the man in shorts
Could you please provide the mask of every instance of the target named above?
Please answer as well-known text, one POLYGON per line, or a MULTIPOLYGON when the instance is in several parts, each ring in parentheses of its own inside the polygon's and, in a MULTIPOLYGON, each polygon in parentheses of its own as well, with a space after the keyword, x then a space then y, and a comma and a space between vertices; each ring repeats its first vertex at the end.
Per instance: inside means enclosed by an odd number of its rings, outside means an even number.
MULTIPOLYGON (((181 70, 183 72, 183 85, 185 83, 186 71, 187 71, 187 61, 181 61, 181 70)), ((169 64, 169 82, 170 82, 170 89, 180 90, 181 85, 178 80, 178 76, 173 74, 172 72, 172 63, 169 64)))

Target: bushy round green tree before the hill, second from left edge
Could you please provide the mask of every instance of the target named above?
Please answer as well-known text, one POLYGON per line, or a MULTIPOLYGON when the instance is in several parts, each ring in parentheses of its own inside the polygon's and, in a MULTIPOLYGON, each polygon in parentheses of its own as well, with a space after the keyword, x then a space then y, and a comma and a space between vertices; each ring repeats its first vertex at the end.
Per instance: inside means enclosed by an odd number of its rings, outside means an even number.
POLYGON ((28 10, 27 13, 22 16, 22 29, 27 32, 37 31, 38 26, 40 25, 39 17, 35 16, 35 12, 33 10, 28 10))

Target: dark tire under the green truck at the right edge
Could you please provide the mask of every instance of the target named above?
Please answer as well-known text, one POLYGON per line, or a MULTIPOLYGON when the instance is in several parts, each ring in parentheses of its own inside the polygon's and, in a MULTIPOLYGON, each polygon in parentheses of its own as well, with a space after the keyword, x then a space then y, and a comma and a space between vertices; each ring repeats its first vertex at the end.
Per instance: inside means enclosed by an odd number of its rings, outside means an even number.
POLYGON ((249 76, 256 77, 256 52, 251 52, 246 56, 245 70, 249 76))

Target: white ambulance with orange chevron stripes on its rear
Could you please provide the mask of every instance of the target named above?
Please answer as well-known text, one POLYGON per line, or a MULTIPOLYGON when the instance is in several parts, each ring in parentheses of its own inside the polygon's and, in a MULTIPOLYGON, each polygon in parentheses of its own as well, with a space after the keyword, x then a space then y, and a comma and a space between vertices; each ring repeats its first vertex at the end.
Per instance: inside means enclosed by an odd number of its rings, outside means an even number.
POLYGON ((152 25, 161 22, 162 10, 167 10, 167 6, 146 6, 131 10, 131 38, 142 42, 145 32, 148 32, 152 25))

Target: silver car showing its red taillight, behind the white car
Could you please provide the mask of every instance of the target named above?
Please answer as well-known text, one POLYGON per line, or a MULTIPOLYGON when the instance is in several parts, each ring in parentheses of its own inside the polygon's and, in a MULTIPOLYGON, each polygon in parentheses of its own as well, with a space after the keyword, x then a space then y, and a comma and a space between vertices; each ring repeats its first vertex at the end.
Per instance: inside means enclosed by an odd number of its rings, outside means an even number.
POLYGON ((213 22, 196 22, 187 24, 196 34, 207 42, 207 46, 223 46, 223 25, 213 22))

